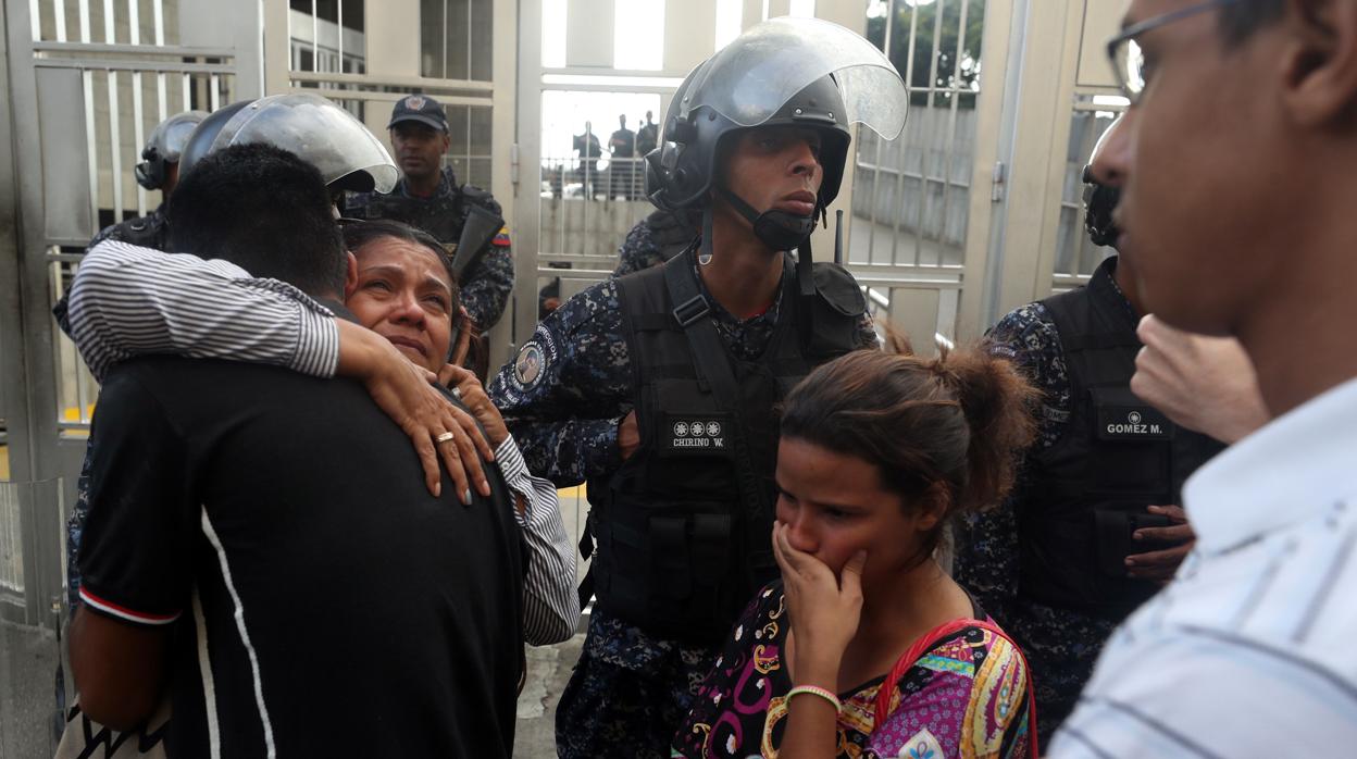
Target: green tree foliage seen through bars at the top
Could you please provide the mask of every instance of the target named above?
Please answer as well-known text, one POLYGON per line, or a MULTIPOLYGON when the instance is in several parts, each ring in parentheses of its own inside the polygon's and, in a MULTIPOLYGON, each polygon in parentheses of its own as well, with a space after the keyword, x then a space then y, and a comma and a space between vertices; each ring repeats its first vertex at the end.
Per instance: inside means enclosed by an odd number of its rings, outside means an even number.
MULTIPOLYGON (((867 39, 885 48, 886 18, 892 16, 887 57, 911 88, 959 90, 958 107, 976 107, 980 91, 980 46, 984 41, 985 0, 873 0, 867 12, 867 39), (939 7, 942 18, 939 19, 939 7), (965 35, 961 12, 966 11, 965 35), (893 12, 890 12, 893 11, 893 12), (913 69, 909 68, 909 30, 915 29, 913 69), (934 38, 938 38, 936 67, 934 38), (959 67, 958 67, 959 58, 959 67)), ((927 92, 913 92, 911 105, 927 106, 927 92)), ((932 105, 951 105, 950 92, 936 92, 932 105)))

